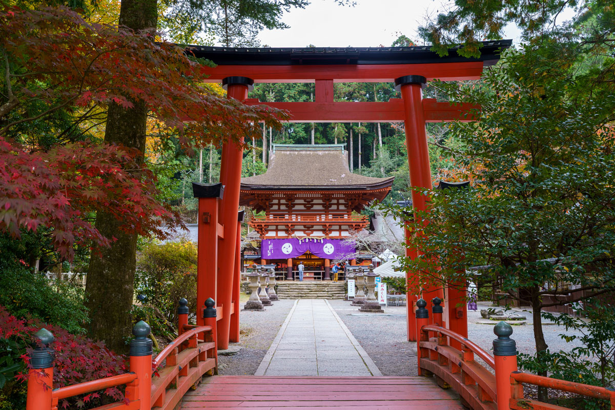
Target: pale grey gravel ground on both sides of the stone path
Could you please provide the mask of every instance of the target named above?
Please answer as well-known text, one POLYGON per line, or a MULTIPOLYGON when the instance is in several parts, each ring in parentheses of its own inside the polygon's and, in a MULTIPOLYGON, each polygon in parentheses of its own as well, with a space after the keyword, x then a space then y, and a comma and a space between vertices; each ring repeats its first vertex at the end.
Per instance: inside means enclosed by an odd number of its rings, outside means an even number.
MULTIPOLYGON (((294 300, 280 300, 274 306, 266 308, 265 312, 242 310, 240 315, 242 347, 237 355, 220 355, 220 374, 254 374, 271 342, 294 304, 294 300)), ((354 337, 370 355, 384 376, 415 376, 416 375, 416 344, 406 341, 406 307, 385 307, 385 314, 362 313, 350 302, 329 301, 339 317, 350 329, 354 337)), ((493 347, 493 326, 477 323, 485 321, 480 316, 480 309, 493 307, 488 302, 479 302, 476 312, 468 312, 469 339, 491 353, 493 347)), ((526 325, 514 326, 512 338, 517 341, 517 349, 522 353, 534 353, 534 333, 531 312, 518 311, 528 320, 526 325)), ((544 325, 543 331, 549 349, 570 350, 576 347, 576 342, 566 342, 559 334, 566 333, 561 326, 544 325)))

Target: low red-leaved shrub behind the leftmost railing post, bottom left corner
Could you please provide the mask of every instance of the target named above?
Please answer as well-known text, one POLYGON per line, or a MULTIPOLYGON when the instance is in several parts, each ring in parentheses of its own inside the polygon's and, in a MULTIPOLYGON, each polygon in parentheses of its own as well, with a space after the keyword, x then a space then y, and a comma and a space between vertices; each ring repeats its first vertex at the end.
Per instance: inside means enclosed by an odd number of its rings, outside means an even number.
MULTIPOLYGON (((0 396, 8 403, 2 409, 25 408, 25 382, 27 380, 27 356, 34 344, 34 333, 46 328, 54 334, 55 350, 54 388, 77 384, 102 377, 115 376, 128 371, 126 358, 105 347, 103 342, 93 342, 85 336, 74 335, 54 325, 46 325, 35 318, 18 319, 0 306, 0 345, 10 350, 0 350, 0 363, 13 363, 10 371, 3 371, 6 384, 0 396)), ((2 370, 0 370, 2 371, 2 370)), ((107 388, 104 391, 76 396, 60 401, 60 408, 93 408, 113 401, 124 400, 123 387, 107 388)))

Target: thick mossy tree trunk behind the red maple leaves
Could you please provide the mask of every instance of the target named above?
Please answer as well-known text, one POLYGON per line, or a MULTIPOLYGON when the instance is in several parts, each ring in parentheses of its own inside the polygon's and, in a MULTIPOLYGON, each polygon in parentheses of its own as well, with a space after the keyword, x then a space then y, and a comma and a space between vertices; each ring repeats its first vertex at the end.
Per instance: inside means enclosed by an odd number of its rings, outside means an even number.
MULTIPOLYGON (((135 31, 155 31, 158 19, 157 0, 122 0, 119 25, 135 31)), ((148 108, 142 100, 132 101, 125 109, 111 103, 107 113, 105 143, 137 148, 145 154, 148 108)), ((143 157, 141 157, 143 160, 143 157)), ((105 341, 109 349, 127 352, 125 337, 132 329, 137 234, 119 230, 122 221, 99 212, 96 228, 107 238, 117 238, 109 248, 95 248, 90 258, 85 286, 85 306, 89 309, 89 336, 105 341)))

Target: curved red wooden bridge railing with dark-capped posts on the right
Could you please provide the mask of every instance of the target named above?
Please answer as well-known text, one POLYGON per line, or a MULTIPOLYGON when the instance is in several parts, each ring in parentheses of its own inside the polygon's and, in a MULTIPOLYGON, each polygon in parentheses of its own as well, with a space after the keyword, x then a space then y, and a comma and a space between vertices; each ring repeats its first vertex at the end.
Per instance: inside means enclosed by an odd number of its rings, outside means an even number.
POLYGON ((498 339, 493 341, 493 356, 477 344, 440 326, 440 299, 433 301, 434 325, 428 325, 429 312, 423 299, 416 302, 418 372, 435 376, 438 385, 451 387, 473 410, 565 410, 561 406, 523 398, 523 383, 553 388, 609 400, 615 410, 615 390, 592 385, 536 376, 518 371, 517 346, 510 339, 512 326, 501 321, 493 329, 498 339), (451 346, 461 345, 461 350, 451 346), (453 343, 453 344, 457 344, 453 343), (480 361, 475 360, 480 358, 480 361), (482 362, 482 363, 481 363, 482 362), (491 369, 491 370, 490 370, 491 369))

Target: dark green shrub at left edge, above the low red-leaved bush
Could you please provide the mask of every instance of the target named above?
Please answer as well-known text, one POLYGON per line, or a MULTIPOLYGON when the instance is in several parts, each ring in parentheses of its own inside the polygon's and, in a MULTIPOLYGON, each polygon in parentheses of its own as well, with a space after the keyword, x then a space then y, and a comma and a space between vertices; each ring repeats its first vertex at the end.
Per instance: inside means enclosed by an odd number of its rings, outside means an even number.
POLYGON ((49 281, 25 267, 7 268, 0 274, 0 306, 18 318, 31 315, 70 333, 85 333, 89 322, 81 288, 49 281))

